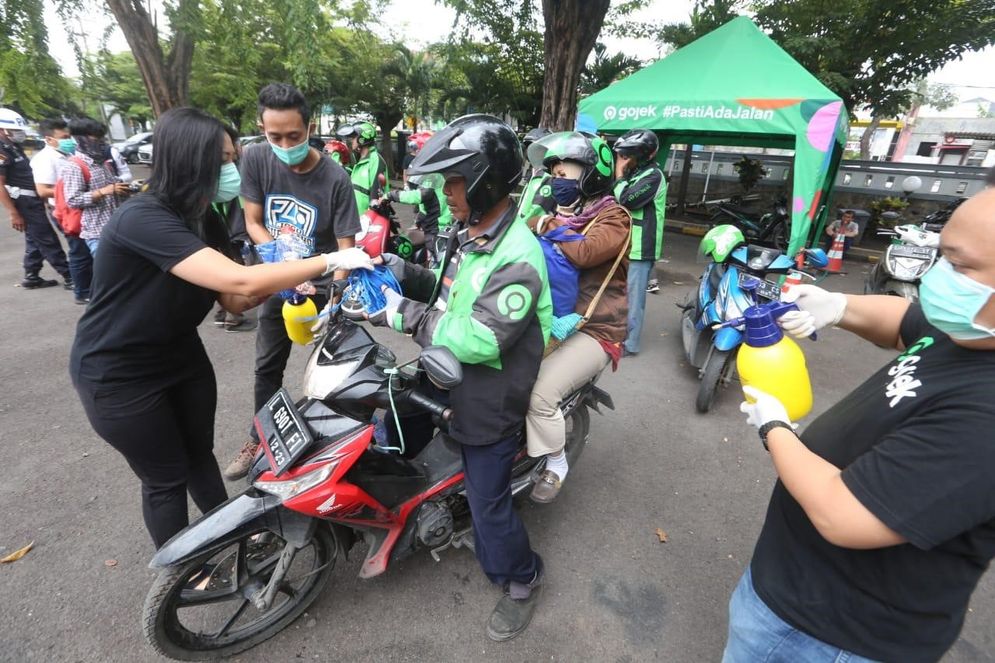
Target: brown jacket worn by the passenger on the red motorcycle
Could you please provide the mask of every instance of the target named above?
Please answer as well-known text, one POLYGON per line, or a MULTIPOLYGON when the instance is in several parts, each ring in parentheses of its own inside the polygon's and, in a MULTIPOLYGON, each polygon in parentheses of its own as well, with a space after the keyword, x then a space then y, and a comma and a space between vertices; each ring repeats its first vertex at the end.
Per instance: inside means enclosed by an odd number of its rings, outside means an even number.
MULTIPOLYGON (((547 217, 548 222, 542 232, 563 225, 556 217, 547 217)), ((623 245, 629 245, 629 228, 632 217, 628 210, 618 204, 610 205, 595 217, 587 236, 581 242, 561 242, 560 251, 567 259, 580 268, 580 295, 577 297, 576 312, 584 315, 594 295, 598 293, 608 272, 615 265, 623 245)), ((626 282, 629 272, 629 256, 626 251, 618 269, 612 275, 601 300, 591 314, 591 319, 581 331, 599 341, 621 343, 625 340, 629 318, 629 302, 626 296, 626 282)))

